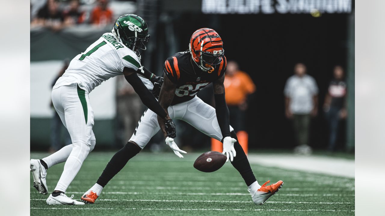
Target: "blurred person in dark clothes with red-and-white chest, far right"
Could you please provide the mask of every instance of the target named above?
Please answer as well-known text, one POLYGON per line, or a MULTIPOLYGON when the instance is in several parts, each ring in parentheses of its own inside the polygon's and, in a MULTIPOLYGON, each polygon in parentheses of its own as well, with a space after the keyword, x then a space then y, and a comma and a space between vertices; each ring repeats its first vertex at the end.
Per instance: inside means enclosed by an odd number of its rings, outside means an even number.
POLYGON ((343 80, 343 68, 334 67, 334 78, 330 81, 328 93, 325 96, 323 110, 329 123, 330 137, 328 150, 333 151, 338 135, 338 123, 346 118, 346 82, 343 80))

